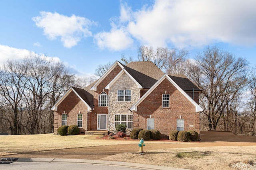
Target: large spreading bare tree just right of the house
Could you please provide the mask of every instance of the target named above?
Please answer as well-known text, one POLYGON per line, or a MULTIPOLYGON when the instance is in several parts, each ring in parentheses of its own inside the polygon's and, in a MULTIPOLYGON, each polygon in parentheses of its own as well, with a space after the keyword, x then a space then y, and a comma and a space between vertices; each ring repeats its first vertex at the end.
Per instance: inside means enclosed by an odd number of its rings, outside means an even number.
POLYGON ((196 55, 188 76, 202 89, 203 113, 210 130, 216 130, 226 106, 247 85, 247 69, 248 61, 217 46, 207 47, 203 54, 196 55))

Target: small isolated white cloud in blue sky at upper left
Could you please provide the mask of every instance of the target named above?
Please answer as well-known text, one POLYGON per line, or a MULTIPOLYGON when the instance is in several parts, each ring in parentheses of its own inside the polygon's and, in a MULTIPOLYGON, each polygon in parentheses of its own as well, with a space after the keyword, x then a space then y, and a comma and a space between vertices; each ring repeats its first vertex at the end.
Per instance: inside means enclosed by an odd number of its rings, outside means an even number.
POLYGON ((40 16, 33 17, 36 26, 44 29, 44 35, 49 40, 55 40, 60 37, 64 47, 71 48, 77 45, 82 38, 92 36, 89 31, 90 26, 95 24, 93 21, 72 15, 70 17, 58 13, 40 12, 40 16))

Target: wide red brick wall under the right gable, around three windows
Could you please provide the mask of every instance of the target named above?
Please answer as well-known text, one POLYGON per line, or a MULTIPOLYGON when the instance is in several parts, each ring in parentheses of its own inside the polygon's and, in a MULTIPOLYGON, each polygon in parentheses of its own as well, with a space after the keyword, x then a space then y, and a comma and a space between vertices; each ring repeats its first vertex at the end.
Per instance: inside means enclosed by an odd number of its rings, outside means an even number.
POLYGON ((134 128, 147 129, 147 118, 154 118, 154 128, 159 130, 163 137, 167 137, 172 130, 177 129, 177 119, 184 119, 184 130, 195 130, 200 133, 199 113, 195 106, 176 89, 170 81, 164 79, 152 91, 134 112, 134 128), (162 108, 162 94, 170 94, 169 108, 162 108), (193 126, 193 127, 191 127, 193 126))

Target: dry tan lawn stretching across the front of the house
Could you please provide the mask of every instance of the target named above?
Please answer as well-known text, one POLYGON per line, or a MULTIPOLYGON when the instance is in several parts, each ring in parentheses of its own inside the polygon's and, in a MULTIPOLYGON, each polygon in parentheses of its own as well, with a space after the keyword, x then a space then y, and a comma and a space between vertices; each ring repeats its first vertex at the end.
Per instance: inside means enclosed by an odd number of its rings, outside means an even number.
POLYGON ((229 164, 234 162, 256 161, 256 136, 201 132, 201 139, 145 141, 144 154, 140 155, 138 140, 102 140, 89 135, 0 136, 0 157, 101 159, 193 170, 231 170, 229 164))

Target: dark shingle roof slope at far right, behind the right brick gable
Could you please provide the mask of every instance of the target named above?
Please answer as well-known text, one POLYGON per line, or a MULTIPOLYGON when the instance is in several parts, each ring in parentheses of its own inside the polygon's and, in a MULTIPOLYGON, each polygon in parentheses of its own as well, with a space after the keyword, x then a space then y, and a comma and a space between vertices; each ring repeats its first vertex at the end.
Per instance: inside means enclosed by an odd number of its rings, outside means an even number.
POLYGON ((169 77, 184 91, 201 91, 194 83, 192 83, 186 76, 182 74, 173 74, 169 77))

